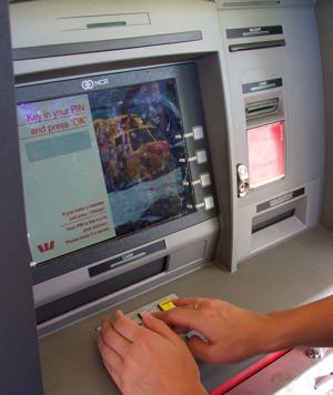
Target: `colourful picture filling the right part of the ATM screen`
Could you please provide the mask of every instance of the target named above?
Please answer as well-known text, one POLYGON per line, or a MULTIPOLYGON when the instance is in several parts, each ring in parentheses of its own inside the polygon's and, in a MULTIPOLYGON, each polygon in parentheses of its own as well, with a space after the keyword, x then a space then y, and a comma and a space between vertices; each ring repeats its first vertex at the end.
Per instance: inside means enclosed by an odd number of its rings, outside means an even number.
POLYGON ((193 211, 174 79, 89 93, 117 235, 193 211))

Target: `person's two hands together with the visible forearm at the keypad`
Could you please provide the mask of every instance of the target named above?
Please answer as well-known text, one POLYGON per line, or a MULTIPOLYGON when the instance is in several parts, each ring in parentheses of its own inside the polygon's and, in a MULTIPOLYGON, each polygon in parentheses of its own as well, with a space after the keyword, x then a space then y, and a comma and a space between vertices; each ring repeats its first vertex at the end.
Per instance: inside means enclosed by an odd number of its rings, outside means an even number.
POLYGON ((103 364, 124 395, 206 394, 193 358, 230 364, 297 345, 333 346, 333 296, 259 314, 220 300, 174 300, 139 326, 118 311, 98 334, 103 364), (195 330, 184 342, 178 334, 195 330))

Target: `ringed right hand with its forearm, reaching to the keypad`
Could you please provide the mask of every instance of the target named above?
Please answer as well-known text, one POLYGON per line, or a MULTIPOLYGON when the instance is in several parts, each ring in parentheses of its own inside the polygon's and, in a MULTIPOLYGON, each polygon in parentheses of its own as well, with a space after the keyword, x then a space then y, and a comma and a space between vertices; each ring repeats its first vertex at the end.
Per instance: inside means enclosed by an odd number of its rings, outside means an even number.
POLYGON ((158 313, 176 333, 195 330, 188 346, 205 362, 229 364, 299 345, 333 346, 333 296, 304 306, 258 314, 228 302, 179 298, 178 306, 158 313), (196 308, 193 308, 196 306, 196 308))

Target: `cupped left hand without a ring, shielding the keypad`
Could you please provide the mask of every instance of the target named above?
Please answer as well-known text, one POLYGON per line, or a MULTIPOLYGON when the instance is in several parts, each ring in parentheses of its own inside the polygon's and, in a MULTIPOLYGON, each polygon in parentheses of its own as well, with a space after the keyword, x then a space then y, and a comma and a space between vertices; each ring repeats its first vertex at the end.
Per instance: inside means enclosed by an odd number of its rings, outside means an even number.
POLYGON ((162 321, 143 315, 139 326, 118 311, 103 320, 98 347, 124 395, 202 395, 199 368, 186 344, 162 321))

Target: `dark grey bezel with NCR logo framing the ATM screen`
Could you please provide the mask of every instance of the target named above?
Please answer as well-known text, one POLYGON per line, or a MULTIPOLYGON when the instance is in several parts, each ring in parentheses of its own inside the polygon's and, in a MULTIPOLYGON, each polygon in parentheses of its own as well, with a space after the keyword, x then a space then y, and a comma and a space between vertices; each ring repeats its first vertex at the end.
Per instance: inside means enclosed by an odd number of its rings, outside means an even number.
MULTIPOLYGON (((59 79, 17 87, 17 102, 38 102, 53 98, 77 95, 85 93, 82 83, 87 79, 95 84, 89 91, 120 88, 158 80, 174 79, 178 99, 182 114, 184 131, 201 124, 204 126, 202 100, 194 62, 180 63, 165 67, 125 70, 120 72, 103 73, 98 75, 82 75, 70 79, 59 79), (98 81, 108 80, 108 84, 98 81), (95 82, 94 82, 95 81, 95 82)), ((186 141, 189 149, 190 142, 186 141)), ((208 146, 205 148, 208 150, 208 146)), ((218 210, 205 211, 200 209, 181 217, 170 219, 167 222, 153 224, 147 229, 120 237, 110 239, 98 244, 87 246, 65 255, 38 264, 32 270, 33 283, 65 274, 73 270, 89 266, 98 262, 121 254, 131 249, 162 239, 168 234, 186 229, 203 222, 218 214, 218 210)))

